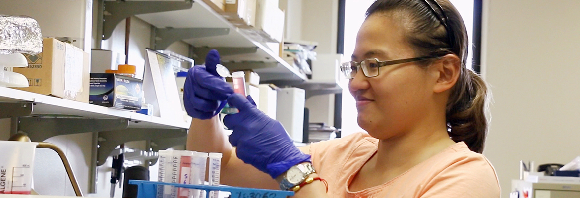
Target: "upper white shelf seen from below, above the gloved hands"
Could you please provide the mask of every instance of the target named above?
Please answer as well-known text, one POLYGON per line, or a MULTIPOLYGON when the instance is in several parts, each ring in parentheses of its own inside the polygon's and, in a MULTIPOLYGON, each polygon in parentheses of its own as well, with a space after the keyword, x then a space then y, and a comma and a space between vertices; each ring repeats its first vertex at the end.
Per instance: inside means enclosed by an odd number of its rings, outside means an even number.
POLYGON ((280 58, 278 48, 269 48, 267 42, 271 40, 270 38, 256 33, 253 29, 236 27, 222 14, 216 12, 202 1, 195 1, 191 9, 138 14, 136 17, 157 28, 227 28, 229 33, 226 35, 205 36, 184 39, 183 41, 190 43, 194 47, 257 48, 255 53, 223 54, 222 61, 230 70, 253 69, 260 75, 260 78, 266 81, 305 82, 308 80, 306 75, 300 73, 297 68, 293 68, 280 58))

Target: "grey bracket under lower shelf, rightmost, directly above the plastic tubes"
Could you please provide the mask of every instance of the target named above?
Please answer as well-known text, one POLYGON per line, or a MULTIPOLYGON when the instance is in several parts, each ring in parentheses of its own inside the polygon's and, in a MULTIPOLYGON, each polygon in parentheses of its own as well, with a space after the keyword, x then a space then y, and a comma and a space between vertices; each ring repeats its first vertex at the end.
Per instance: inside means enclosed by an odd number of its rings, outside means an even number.
POLYGON ((160 140, 164 138, 183 138, 186 140, 186 129, 147 129, 129 128, 99 132, 97 145, 97 166, 102 166, 111 152, 120 144, 131 141, 160 140))

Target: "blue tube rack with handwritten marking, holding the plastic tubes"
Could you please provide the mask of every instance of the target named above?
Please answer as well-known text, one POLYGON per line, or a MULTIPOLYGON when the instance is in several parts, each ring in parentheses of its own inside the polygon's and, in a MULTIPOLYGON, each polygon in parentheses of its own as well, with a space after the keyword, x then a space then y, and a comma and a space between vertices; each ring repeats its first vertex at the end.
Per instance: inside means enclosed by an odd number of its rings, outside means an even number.
POLYGON ((157 198, 157 185, 171 185, 180 188, 191 188, 205 190, 206 198, 209 198, 210 190, 220 190, 231 193, 231 198, 285 198, 293 196, 294 192, 290 190, 266 190, 257 188, 240 188, 232 186, 209 186, 193 184, 175 184, 164 182, 153 182, 143 180, 129 180, 129 184, 137 185, 138 198, 157 198))

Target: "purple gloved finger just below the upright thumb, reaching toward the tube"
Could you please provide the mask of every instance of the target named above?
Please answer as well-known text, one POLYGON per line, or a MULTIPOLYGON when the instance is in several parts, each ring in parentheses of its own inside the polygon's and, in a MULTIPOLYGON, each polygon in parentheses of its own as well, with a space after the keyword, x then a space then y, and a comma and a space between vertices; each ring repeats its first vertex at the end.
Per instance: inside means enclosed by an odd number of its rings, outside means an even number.
POLYGON ((191 73, 193 73, 192 75, 195 83, 205 89, 211 89, 226 96, 234 93, 234 89, 230 84, 224 82, 223 78, 209 74, 209 72, 201 65, 195 66, 194 71, 190 70, 190 74, 191 73))

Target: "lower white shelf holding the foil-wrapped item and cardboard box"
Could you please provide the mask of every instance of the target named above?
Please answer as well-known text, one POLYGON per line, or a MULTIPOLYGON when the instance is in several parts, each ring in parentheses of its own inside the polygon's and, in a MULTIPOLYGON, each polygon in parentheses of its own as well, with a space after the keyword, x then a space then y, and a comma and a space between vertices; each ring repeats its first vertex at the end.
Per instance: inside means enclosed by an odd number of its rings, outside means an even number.
POLYGON ((1 103, 31 102, 31 116, 58 118, 129 119, 131 128, 189 129, 191 120, 171 120, 147 116, 131 111, 106 108, 98 105, 46 96, 30 91, 0 87, 1 103), (187 122, 189 121, 189 122, 187 122))

